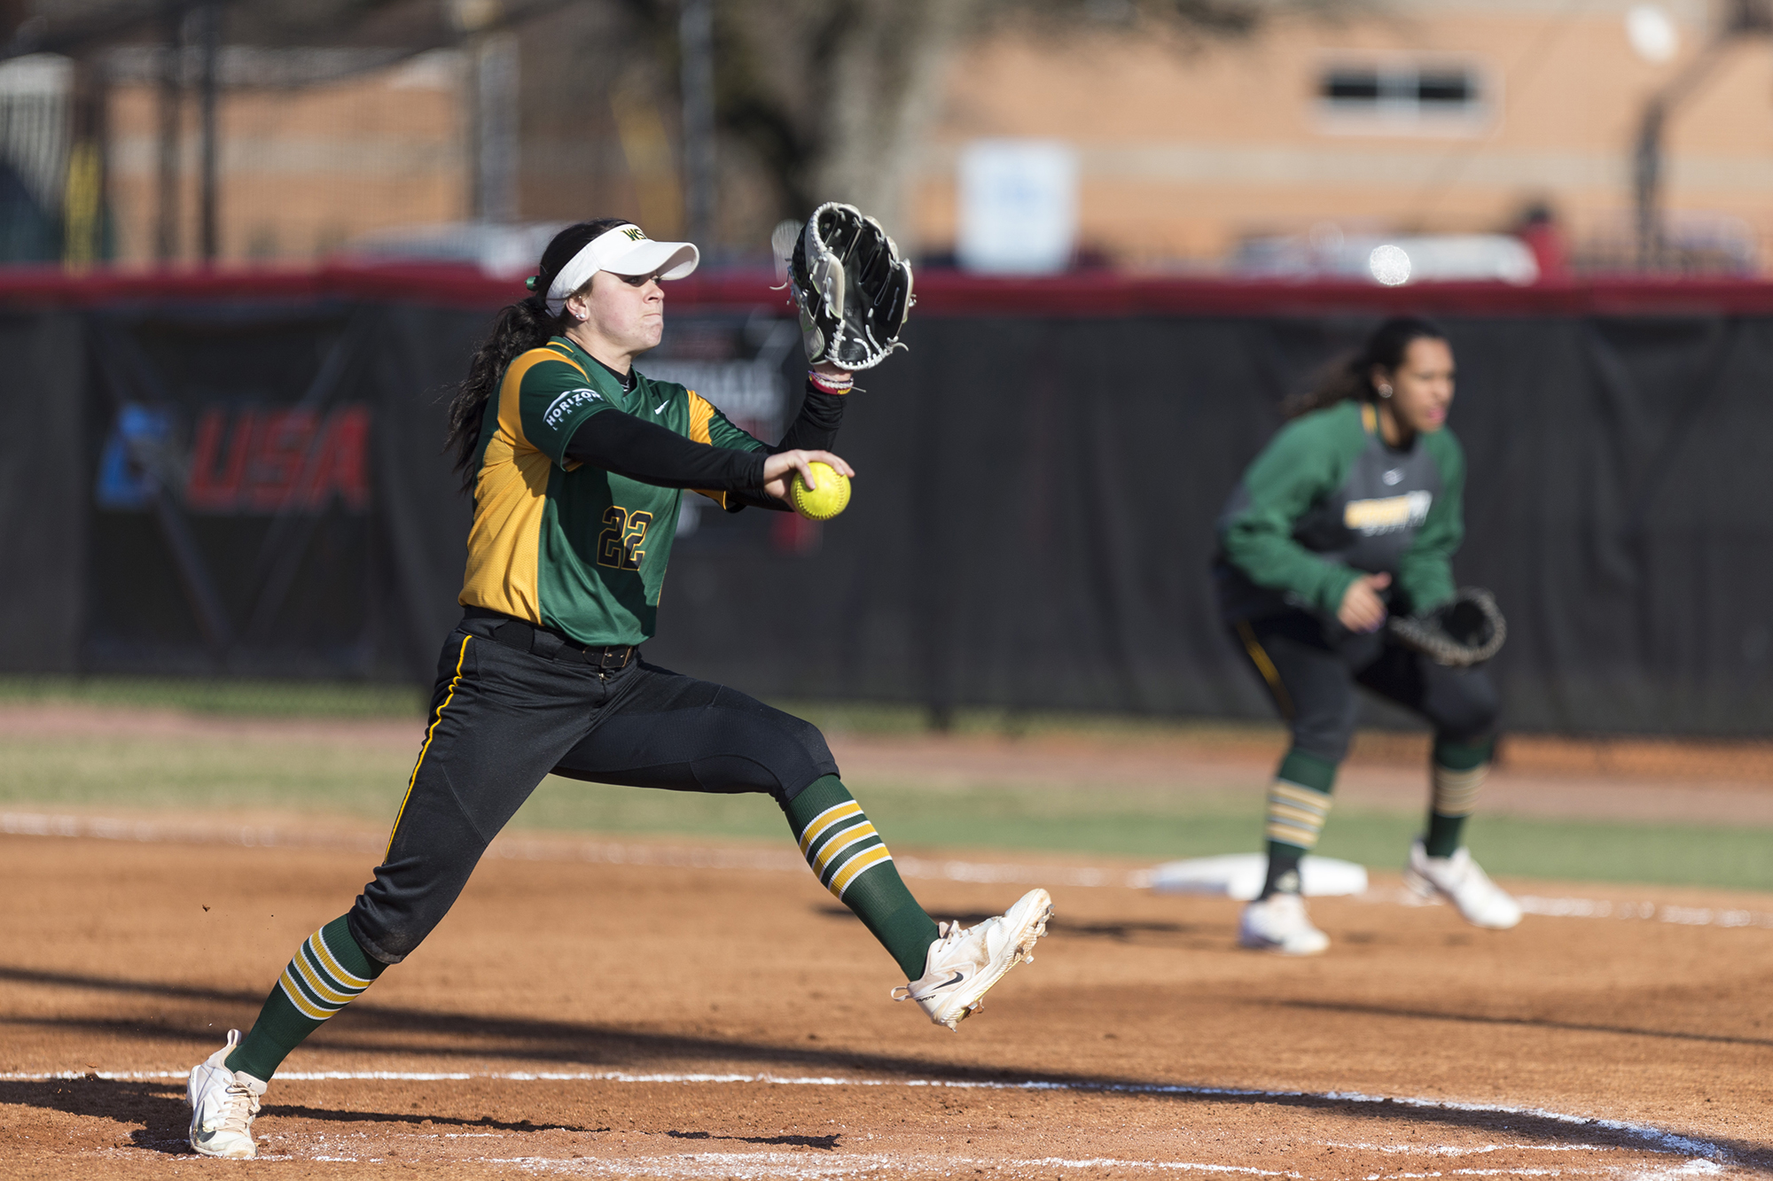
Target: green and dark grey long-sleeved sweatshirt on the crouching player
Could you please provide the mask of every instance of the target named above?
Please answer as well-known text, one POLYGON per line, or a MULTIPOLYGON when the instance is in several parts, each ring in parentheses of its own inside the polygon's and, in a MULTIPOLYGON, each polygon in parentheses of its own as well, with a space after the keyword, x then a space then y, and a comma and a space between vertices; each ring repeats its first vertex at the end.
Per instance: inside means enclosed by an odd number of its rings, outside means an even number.
POLYGON ((1289 422, 1262 449, 1218 521, 1227 621, 1287 608, 1335 615, 1360 575, 1392 575, 1392 606, 1434 608, 1454 594, 1464 537, 1464 452, 1452 431, 1388 447, 1369 403, 1289 422))

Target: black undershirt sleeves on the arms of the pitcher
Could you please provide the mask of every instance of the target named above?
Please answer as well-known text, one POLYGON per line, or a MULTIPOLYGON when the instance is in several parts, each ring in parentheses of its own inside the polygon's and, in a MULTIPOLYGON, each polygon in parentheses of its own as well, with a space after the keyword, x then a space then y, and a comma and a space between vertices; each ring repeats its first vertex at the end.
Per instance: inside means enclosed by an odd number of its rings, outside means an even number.
POLYGON ((764 459, 782 450, 830 450, 842 420, 844 399, 810 383, 782 442, 764 450, 709 447, 621 410, 605 410, 573 431, 566 458, 660 488, 725 491, 734 509, 787 509, 764 491, 764 459))

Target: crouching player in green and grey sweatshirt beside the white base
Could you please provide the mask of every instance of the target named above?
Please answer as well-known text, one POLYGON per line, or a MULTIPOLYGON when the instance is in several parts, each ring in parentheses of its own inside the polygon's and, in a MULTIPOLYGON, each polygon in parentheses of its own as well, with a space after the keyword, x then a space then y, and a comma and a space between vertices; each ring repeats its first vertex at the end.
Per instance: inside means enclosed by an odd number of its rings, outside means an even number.
POLYGON ((1268 793, 1268 878, 1243 911, 1245 947, 1293 956, 1330 938, 1300 897, 1347 755, 1355 686, 1434 727, 1427 832, 1406 881, 1466 920, 1512 927, 1519 906, 1459 841, 1495 750, 1496 692, 1482 667, 1447 669, 1386 638, 1386 612, 1454 596, 1464 456, 1445 429, 1452 348, 1433 323, 1388 319, 1287 424, 1232 491, 1218 525, 1220 610, 1293 731, 1268 793))

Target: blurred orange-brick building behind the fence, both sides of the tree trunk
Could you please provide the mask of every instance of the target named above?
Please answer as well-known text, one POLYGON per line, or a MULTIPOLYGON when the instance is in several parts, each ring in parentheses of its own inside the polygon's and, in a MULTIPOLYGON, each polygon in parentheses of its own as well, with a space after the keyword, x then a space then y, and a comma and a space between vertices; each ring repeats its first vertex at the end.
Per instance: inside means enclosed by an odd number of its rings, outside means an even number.
MULTIPOLYGON (((477 216, 615 213, 677 232, 674 85, 621 50, 608 7, 567 5, 417 55, 225 46, 218 257, 309 261, 477 216)), ((1000 27, 954 57, 904 177, 899 229, 918 254, 952 252, 970 142, 1037 138, 1076 158, 1083 254, 1119 264, 1216 268, 1262 236, 1512 231, 1535 211, 1578 266, 1624 266, 1642 112, 1722 20, 1707 0, 1388 0, 1181 43, 1135 32, 1113 0, 1089 11, 1057 32, 1000 27)), ((89 121, 103 124, 108 204, 96 254, 126 264, 163 250, 160 60, 151 44, 112 48, 82 74, 103 67, 106 83, 89 121)), ((0 115, 27 99, 39 113, 71 105, 80 87, 44 55, 14 59, 0 66, 0 115)), ((12 137, 0 181, 21 177, 12 197, 35 202, 44 225, 78 225, 82 192, 62 183, 80 176, 78 135, 57 147, 39 128, 27 151, 18 126, 0 119, 12 137)), ((179 129, 170 254, 193 259, 190 89, 179 129)), ((1713 270, 1773 261, 1773 39, 1716 51, 1672 108, 1663 147, 1672 241, 1713 270)), ((761 167, 723 144, 716 234, 730 252, 761 250, 784 213, 761 167)), ((28 246, 50 231, 12 215, 9 225, 27 243, 11 257, 53 257, 28 246)))

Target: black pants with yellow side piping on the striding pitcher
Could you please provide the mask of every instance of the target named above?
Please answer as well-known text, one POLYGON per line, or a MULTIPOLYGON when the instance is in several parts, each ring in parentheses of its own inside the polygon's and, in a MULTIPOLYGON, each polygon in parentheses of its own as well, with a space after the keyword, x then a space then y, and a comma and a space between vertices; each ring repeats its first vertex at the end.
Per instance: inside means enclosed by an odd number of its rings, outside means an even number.
POLYGON ((837 775, 810 722, 638 656, 599 672, 505 647, 491 638, 502 622, 463 619, 443 644, 388 853, 351 908, 351 936, 383 963, 431 935, 550 771, 631 787, 761 791, 778 803, 837 775))

